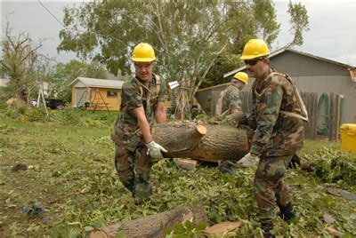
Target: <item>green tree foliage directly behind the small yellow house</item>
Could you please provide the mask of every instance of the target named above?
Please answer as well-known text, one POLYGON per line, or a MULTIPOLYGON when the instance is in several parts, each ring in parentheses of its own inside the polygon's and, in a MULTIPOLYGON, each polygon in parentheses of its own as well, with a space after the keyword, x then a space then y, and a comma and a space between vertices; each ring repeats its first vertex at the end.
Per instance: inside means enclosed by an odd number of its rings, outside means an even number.
POLYGON ((50 97, 69 102, 71 100, 69 83, 78 76, 106 79, 107 71, 98 61, 88 64, 73 59, 68 63, 58 63, 53 69, 50 97))

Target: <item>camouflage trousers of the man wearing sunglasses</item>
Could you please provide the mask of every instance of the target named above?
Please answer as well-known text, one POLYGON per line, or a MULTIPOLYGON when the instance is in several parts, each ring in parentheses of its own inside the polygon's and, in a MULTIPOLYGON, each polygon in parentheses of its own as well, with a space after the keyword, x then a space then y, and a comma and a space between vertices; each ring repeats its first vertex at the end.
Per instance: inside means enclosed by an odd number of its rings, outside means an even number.
POLYGON ((290 202, 283 177, 292 156, 261 156, 254 181, 254 194, 260 222, 273 222, 277 217, 276 204, 280 207, 290 202))

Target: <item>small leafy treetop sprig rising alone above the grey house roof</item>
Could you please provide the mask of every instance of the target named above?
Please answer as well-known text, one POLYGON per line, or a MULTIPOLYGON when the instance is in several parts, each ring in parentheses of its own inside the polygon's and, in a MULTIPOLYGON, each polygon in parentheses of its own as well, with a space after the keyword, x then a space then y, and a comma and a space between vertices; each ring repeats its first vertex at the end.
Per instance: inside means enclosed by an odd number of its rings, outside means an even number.
POLYGON ((302 45, 303 44, 303 31, 309 30, 309 16, 305 6, 301 3, 292 4, 289 1, 288 11, 290 14, 289 32, 294 35, 293 41, 288 46, 302 45))

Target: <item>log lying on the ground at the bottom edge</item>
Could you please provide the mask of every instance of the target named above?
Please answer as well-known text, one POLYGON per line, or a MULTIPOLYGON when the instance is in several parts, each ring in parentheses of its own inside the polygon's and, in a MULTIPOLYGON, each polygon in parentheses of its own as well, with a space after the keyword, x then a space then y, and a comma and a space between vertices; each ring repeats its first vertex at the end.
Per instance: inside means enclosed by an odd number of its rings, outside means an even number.
POLYGON ((167 210, 146 218, 95 229, 90 238, 114 238, 119 233, 125 234, 125 237, 165 237, 165 229, 171 229, 175 224, 187 220, 197 226, 199 222, 207 221, 206 211, 202 207, 167 210))

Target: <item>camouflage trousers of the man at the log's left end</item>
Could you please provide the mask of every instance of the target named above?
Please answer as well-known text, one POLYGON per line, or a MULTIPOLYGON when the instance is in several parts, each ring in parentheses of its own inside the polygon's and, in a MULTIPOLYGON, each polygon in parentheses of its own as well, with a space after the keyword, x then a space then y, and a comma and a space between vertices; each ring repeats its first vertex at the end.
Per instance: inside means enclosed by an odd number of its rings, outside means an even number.
POLYGON ((135 151, 115 143, 115 167, 121 183, 138 200, 146 200, 152 194, 150 186, 150 168, 152 167, 147 147, 139 145, 135 151))

